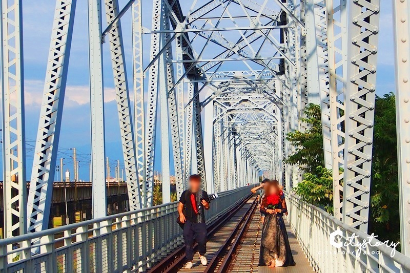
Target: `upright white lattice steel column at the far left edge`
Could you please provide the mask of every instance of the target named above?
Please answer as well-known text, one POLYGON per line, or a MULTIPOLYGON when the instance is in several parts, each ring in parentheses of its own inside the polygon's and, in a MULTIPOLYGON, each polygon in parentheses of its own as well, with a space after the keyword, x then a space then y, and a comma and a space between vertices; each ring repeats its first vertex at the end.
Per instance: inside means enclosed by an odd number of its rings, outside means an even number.
POLYGON ((22 1, 2 1, 0 11, 4 236, 10 238, 27 233, 22 1))

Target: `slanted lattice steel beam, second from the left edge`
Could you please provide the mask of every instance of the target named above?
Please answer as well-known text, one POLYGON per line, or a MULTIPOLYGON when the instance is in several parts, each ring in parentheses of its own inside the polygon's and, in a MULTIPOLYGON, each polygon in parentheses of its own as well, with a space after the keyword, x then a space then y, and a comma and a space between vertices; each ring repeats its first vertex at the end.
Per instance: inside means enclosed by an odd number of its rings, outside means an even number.
MULTIPOLYGON (((56 2, 27 201, 29 232, 48 228, 76 0, 56 2), (50 186, 49 186, 50 185, 50 186)), ((63 166, 61 166, 61 175, 63 166)))

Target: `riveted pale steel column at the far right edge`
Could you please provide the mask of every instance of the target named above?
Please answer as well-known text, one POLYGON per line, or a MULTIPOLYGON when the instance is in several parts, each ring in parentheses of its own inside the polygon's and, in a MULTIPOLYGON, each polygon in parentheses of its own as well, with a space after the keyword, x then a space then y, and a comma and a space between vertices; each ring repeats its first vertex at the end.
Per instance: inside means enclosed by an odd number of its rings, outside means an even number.
POLYGON ((393 1, 396 59, 397 152, 399 160, 400 246, 410 256, 410 1, 393 1))

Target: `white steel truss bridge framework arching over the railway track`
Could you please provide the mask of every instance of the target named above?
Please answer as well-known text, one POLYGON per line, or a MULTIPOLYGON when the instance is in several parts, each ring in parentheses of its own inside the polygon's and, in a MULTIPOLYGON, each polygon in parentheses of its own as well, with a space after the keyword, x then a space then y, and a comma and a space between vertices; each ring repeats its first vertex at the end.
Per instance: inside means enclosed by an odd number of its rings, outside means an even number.
MULTIPOLYGON (((171 223, 167 215, 175 214, 176 205, 167 204, 165 180, 166 205, 151 207, 155 149, 160 150, 162 177, 170 176, 173 164, 178 195, 189 175, 198 173, 208 192, 225 193, 218 199, 222 210, 241 199, 244 189, 249 191, 244 186, 257 183, 262 171, 290 191, 302 173, 283 162, 298 149, 286 134, 309 129, 300 121, 308 103, 320 104, 325 167, 333 171, 334 195, 343 198, 334 198, 330 216, 289 195, 291 226, 315 270, 323 272, 331 265, 314 253, 312 236, 326 241, 332 228, 343 230, 343 238, 354 232, 366 235, 380 0, 130 0, 121 6, 118 0, 88 0, 94 220, 46 230, 78 13, 76 0, 55 2, 32 166, 26 165, 25 155, 22 1, 2 1, 0 6, 7 238, 0 240, 0 268, 14 272, 40 265, 53 270, 58 257, 64 254, 64 261, 71 261, 74 251, 82 267, 67 265, 67 272, 100 271, 104 265, 109 271, 145 270, 181 238, 174 227, 156 233, 171 223), (122 39, 130 33, 121 29, 126 13, 132 16, 130 56, 122 39), (146 16, 152 18, 150 26, 142 24, 146 16), (143 49, 146 40, 150 46, 143 49), (111 64, 104 66, 113 71, 131 208, 117 217, 106 217, 103 79, 111 75, 103 75, 103 50, 111 54, 111 64), (126 57, 132 57, 128 73, 126 57), (32 174, 28 192, 27 167, 32 174), (314 221, 315 228, 309 232, 300 221, 314 221), (64 233, 64 246, 54 253, 58 232, 64 233), (122 262, 105 256, 110 247, 124 250, 122 262)), ((410 1, 393 3, 404 255, 388 257, 382 246, 375 255, 339 255, 355 265, 340 271, 410 270, 410 1)), ((219 213, 212 212, 211 218, 219 213)))

